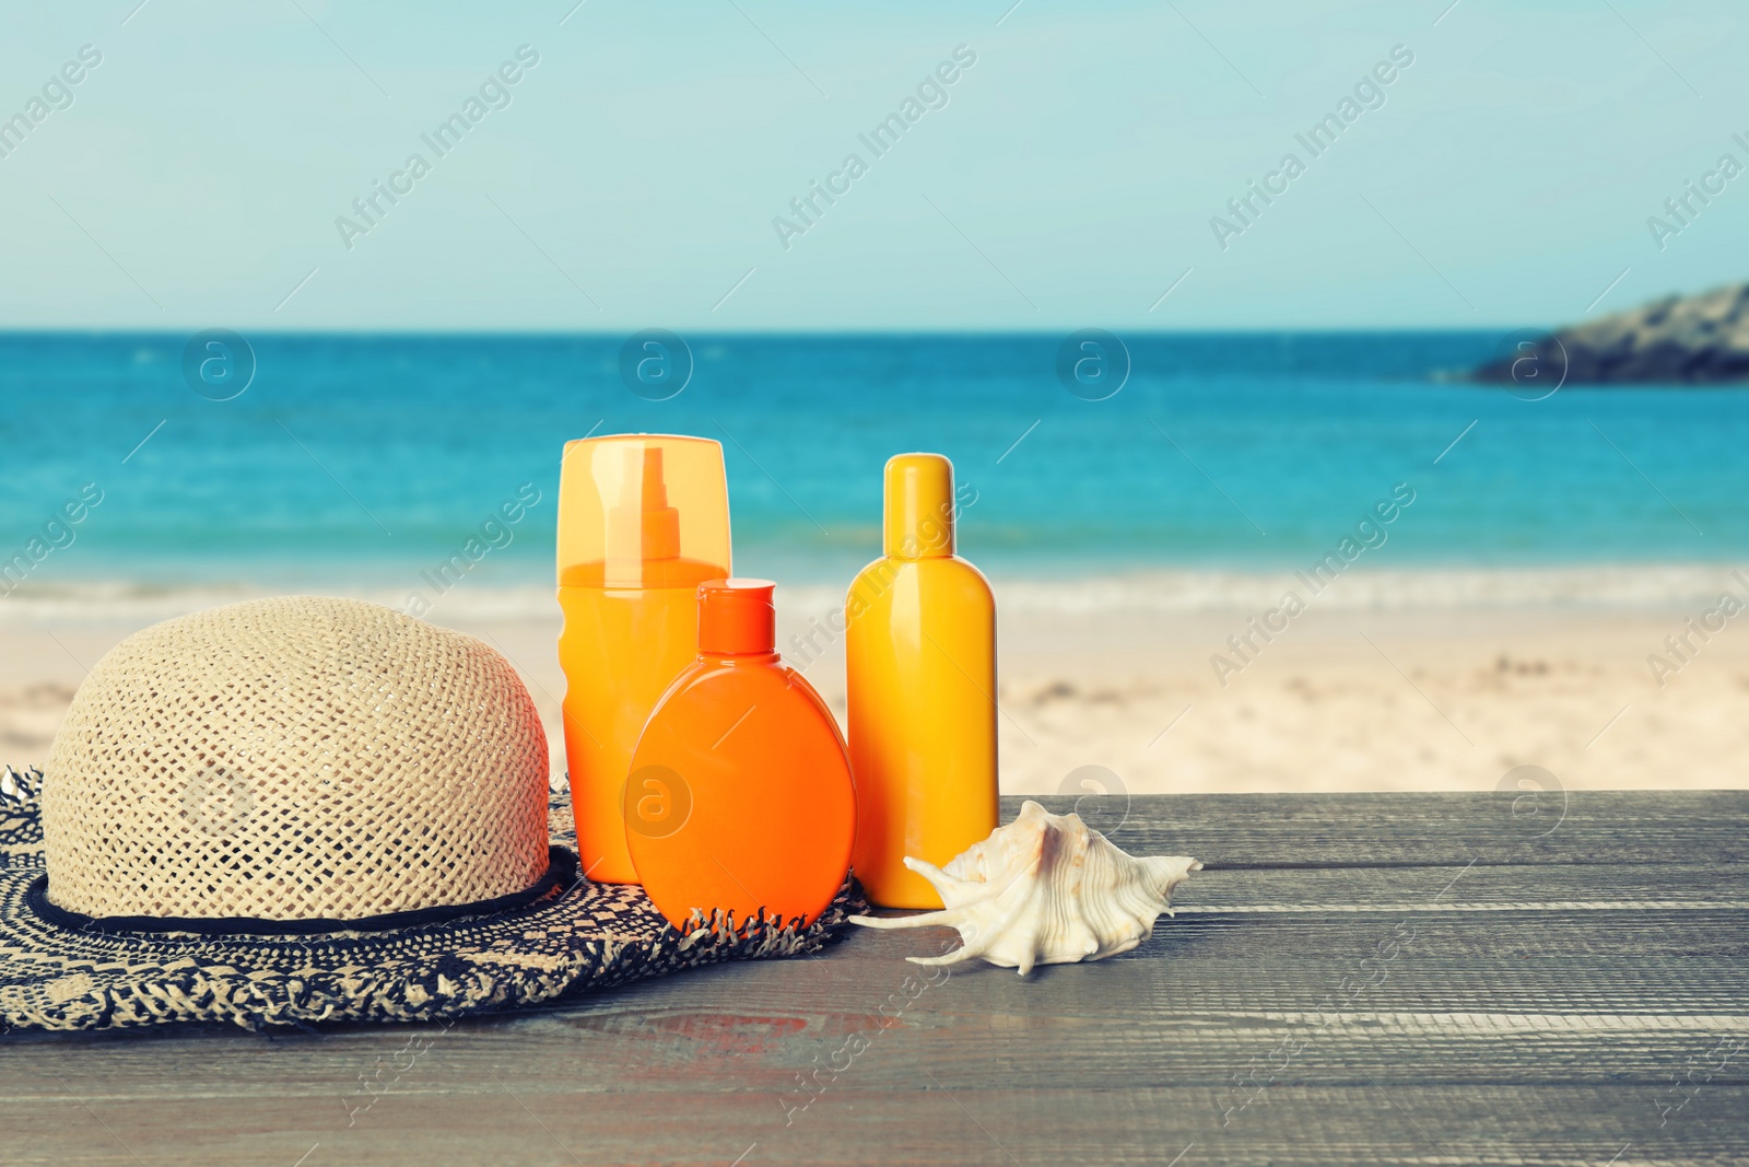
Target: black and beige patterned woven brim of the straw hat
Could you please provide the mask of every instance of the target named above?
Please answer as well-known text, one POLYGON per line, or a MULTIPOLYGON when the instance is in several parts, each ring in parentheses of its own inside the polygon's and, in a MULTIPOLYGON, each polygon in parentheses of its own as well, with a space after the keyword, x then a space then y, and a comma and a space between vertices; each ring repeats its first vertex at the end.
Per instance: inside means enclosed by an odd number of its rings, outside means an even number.
MULTIPOLYGON (((575 847, 568 793, 553 793, 547 828, 554 847, 575 847)), ((817 952, 868 910, 850 878, 808 927, 729 920, 680 933, 642 887, 574 878, 518 908, 406 929, 101 933, 38 915, 28 892, 42 873, 37 798, 0 796, 0 1029, 448 1020, 817 952)))

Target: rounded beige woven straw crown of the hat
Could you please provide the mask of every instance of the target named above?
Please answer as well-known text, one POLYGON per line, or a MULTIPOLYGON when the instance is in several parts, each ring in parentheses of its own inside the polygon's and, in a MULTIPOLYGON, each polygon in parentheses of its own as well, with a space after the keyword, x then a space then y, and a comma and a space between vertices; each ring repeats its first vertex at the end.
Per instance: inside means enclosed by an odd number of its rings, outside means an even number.
POLYGON ((44 768, 49 899, 93 917, 338 919, 519 892, 547 745, 474 637, 360 600, 164 621, 86 677, 44 768))

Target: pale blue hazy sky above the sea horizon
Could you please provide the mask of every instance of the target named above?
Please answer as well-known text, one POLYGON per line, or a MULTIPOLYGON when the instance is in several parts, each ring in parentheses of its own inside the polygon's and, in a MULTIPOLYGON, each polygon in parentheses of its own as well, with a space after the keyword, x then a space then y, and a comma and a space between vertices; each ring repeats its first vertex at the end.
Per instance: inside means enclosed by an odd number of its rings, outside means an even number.
POLYGON ((1749 175, 1705 178, 1749 164, 1746 21, 1735 0, 7 5, 0 119, 30 128, 0 136, 0 327, 1553 325, 1746 278, 1749 175), (427 142, 451 114, 465 133, 427 142), (897 140, 866 140, 888 115, 897 140), (1723 191, 1676 224, 1690 180, 1723 191), (364 217, 376 184, 402 192, 364 217), (798 213, 815 184, 838 194, 798 213))

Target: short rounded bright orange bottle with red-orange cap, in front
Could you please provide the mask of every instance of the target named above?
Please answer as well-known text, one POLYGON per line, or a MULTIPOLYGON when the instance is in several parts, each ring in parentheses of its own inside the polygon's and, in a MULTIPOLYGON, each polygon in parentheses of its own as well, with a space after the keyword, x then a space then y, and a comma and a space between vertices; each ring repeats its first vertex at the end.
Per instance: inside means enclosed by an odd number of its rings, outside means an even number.
POLYGON ((624 819, 651 903, 813 922, 850 868, 857 803, 833 712, 773 651, 771 581, 698 588, 698 660, 644 726, 624 819))

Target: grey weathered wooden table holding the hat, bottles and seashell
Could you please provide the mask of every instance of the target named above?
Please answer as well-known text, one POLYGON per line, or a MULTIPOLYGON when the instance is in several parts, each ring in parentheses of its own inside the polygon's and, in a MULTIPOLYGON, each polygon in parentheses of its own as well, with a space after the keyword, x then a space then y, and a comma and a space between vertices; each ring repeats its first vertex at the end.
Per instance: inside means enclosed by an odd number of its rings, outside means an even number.
POLYGON ((14 1034, 0 1162, 1744 1164, 1746 828, 1735 791, 1137 798, 1114 840, 1207 870, 1112 961, 927 983, 950 933, 857 929, 451 1029, 14 1034))

